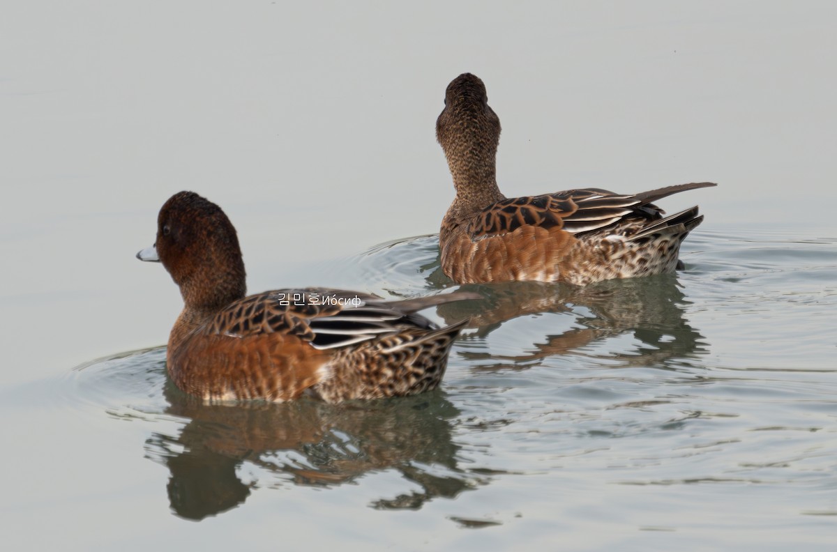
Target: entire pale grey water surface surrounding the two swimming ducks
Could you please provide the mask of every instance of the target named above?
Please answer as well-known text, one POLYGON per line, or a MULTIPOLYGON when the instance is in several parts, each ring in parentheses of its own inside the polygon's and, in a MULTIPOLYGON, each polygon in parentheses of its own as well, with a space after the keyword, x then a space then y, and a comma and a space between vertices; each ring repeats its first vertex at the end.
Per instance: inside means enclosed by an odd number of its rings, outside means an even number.
POLYGON ((834 549, 834 21, 828 1, 5 3, 0 540, 834 549), (719 182, 661 202, 706 214, 687 270, 475 286, 429 311, 475 327, 407 400, 168 386, 181 300, 134 254, 182 189, 229 214, 253 292, 449 287, 434 120, 464 71, 501 118, 506 195, 719 182))

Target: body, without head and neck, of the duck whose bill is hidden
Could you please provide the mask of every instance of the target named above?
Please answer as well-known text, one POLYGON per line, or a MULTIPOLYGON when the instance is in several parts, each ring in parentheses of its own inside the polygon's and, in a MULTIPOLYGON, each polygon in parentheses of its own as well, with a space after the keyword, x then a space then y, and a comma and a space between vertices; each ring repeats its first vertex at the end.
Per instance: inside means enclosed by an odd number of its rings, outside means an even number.
POLYGON ((586 285, 673 273, 680 243, 703 217, 697 207, 665 217, 649 198, 706 185, 635 195, 570 190, 506 199, 470 217, 445 217, 439 233, 442 270, 458 284, 539 280, 586 285))

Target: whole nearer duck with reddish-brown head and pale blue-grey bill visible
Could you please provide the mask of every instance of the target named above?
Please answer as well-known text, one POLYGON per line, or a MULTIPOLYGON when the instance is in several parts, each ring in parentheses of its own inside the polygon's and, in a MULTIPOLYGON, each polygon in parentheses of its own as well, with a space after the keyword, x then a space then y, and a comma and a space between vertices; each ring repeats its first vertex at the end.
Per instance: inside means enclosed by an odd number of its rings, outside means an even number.
POLYGON ((439 329, 416 312, 479 297, 387 301, 322 288, 245 297, 235 228, 194 192, 163 205, 157 242, 136 256, 162 262, 180 287, 183 310, 169 335, 167 370, 182 391, 208 401, 306 394, 338 402, 429 391, 467 320, 439 329))

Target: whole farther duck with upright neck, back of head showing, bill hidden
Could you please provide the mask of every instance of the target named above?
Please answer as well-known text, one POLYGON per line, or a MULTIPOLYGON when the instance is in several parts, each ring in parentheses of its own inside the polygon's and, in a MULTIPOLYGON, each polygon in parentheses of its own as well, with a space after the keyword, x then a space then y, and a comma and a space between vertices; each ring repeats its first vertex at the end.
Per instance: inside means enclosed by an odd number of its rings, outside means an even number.
POLYGON ((697 207, 665 217, 653 202, 716 184, 506 198, 496 181, 500 132, 482 80, 465 73, 451 81, 436 120, 436 137, 456 188, 439 231, 442 270, 450 279, 585 285, 678 268, 680 243, 703 217, 697 207))

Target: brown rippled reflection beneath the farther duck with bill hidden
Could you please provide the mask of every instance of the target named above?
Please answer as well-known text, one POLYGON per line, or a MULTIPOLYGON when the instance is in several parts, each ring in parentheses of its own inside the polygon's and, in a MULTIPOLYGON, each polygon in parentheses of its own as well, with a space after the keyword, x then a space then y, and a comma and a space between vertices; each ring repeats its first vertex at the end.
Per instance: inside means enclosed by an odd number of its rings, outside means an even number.
MULTIPOLYGON (((434 274, 429 279, 438 279, 434 274)), ((470 351, 470 360, 496 360, 481 367, 529 366, 552 355, 584 355, 616 361, 614 367, 650 366, 672 368, 705 355, 708 345, 686 320, 685 294, 674 274, 638 279, 607 280, 584 288, 542 282, 470 284, 462 289, 478 291, 485 299, 471 304, 448 304, 439 309, 444 319, 470 315, 478 328, 465 340, 485 339, 503 322, 540 313, 574 316, 572 327, 559 334, 544 335, 541 342, 522 348, 521 355, 490 355, 470 351), (633 335, 639 345, 631 350, 593 354, 593 345, 619 335, 633 335)), ((521 344, 522 345, 522 344, 521 344)))

